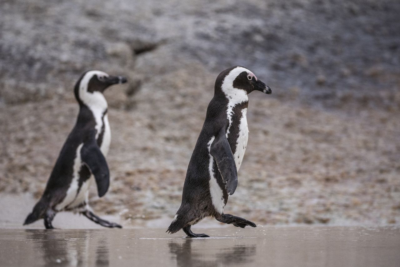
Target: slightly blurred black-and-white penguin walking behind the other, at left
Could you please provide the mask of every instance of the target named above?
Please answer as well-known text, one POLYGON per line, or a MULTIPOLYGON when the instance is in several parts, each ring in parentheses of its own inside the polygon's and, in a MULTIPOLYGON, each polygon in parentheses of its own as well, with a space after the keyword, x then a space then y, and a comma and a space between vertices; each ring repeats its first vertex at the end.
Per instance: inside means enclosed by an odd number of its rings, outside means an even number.
POLYGON ((111 141, 107 101, 103 92, 113 84, 126 82, 121 76, 90 70, 75 85, 79 103, 76 124, 68 135, 41 199, 28 215, 24 225, 44 219, 46 229, 54 228, 52 220, 59 211, 74 211, 105 227, 120 227, 96 216, 89 207, 89 187, 93 176, 99 197, 108 190, 110 174, 105 156, 111 141))

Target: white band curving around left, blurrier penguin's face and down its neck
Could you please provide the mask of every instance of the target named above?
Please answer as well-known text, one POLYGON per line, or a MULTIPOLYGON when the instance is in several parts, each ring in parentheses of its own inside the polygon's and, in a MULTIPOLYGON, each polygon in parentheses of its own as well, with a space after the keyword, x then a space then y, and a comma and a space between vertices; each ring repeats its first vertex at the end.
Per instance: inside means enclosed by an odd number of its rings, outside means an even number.
POLYGON ((96 139, 100 134, 103 126, 102 116, 104 111, 107 109, 107 100, 101 92, 94 91, 88 92, 88 84, 90 79, 97 75, 98 77, 108 77, 108 74, 99 70, 90 70, 86 72, 79 84, 79 98, 82 102, 90 108, 93 113, 94 119, 96 120, 96 139))

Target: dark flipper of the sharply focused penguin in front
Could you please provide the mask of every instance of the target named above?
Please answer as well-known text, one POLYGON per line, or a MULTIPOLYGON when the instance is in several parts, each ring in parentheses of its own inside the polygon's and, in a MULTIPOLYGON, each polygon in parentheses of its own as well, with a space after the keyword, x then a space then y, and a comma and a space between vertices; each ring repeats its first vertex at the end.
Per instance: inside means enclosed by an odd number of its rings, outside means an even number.
POLYGON ((225 131, 221 130, 215 137, 210 154, 217 162, 218 170, 226 183, 226 190, 232 195, 238 186, 238 171, 225 131))

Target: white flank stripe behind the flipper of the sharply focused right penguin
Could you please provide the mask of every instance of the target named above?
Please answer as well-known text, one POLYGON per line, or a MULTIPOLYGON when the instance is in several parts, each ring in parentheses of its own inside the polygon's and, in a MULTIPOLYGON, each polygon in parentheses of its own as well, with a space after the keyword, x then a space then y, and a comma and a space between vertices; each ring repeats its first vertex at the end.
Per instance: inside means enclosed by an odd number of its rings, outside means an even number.
MULTIPOLYGON (((211 137, 210 141, 207 144, 208 147, 208 153, 210 153, 210 147, 212 142, 214 142, 215 137, 211 137)), ((215 177, 215 173, 212 169, 214 165, 214 158, 210 155, 210 162, 208 164, 208 171, 210 173, 210 181, 209 186, 210 186, 210 195, 211 195, 211 201, 212 205, 214 206, 215 210, 222 214, 224 212, 224 206, 225 206, 225 201, 224 201, 224 193, 222 192, 222 189, 220 185, 217 183, 217 179, 215 177)))

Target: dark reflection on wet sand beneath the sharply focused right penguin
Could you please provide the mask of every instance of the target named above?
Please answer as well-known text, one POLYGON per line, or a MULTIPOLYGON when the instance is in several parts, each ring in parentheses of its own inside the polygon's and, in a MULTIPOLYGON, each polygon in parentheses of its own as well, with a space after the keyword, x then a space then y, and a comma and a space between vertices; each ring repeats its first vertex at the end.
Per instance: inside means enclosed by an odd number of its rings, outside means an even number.
POLYGON ((192 252, 193 239, 185 239, 183 243, 170 241, 168 247, 172 259, 176 258, 178 266, 214 267, 222 265, 248 264, 254 261, 256 245, 234 245, 220 248, 214 257, 204 257, 201 251, 192 252), (205 260, 205 258, 207 260, 205 260))

